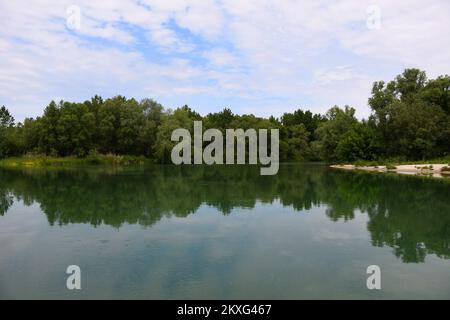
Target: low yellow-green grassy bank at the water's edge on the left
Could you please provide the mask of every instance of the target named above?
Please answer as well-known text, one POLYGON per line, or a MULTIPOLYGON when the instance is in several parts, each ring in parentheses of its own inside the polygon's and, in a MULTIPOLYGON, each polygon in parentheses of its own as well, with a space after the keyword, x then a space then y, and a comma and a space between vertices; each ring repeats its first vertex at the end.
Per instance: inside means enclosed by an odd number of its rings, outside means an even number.
POLYGON ((86 165, 108 165, 108 166, 127 166, 143 165, 150 160, 145 157, 119 156, 112 154, 88 155, 84 158, 78 157, 50 157, 43 155, 23 156, 15 158, 6 158, 0 160, 0 167, 77 167, 86 165))

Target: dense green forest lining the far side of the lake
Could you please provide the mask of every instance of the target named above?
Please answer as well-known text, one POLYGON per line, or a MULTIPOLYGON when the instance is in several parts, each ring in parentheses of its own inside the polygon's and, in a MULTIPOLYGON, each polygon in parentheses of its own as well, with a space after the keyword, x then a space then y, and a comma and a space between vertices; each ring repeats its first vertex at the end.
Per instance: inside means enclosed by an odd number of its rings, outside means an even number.
POLYGON ((170 163, 177 128, 280 129, 281 161, 344 162, 425 160, 450 154, 450 76, 427 79, 406 69, 390 82, 373 84, 372 113, 358 120, 355 109, 334 106, 325 115, 301 109, 280 118, 237 115, 225 108, 200 115, 188 106, 165 109, 151 99, 99 96, 82 103, 54 101, 36 119, 16 123, 0 109, 0 158, 21 155, 145 156, 170 163))

